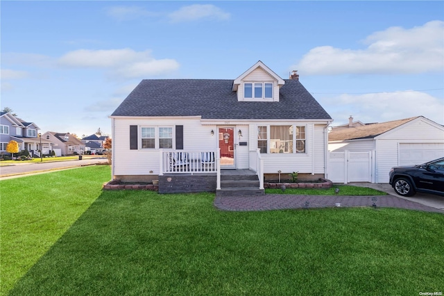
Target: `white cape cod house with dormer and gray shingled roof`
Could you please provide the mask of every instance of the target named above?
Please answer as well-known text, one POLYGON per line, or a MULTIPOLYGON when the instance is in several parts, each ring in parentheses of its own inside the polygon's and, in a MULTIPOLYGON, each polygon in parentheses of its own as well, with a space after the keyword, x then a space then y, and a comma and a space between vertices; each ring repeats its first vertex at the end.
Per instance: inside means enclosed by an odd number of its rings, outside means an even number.
POLYGON ((110 118, 113 179, 158 179, 160 192, 223 190, 224 172, 230 186, 255 175, 259 190, 326 174, 332 118, 296 72, 281 79, 261 61, 234 80, 143 80, 110 118))

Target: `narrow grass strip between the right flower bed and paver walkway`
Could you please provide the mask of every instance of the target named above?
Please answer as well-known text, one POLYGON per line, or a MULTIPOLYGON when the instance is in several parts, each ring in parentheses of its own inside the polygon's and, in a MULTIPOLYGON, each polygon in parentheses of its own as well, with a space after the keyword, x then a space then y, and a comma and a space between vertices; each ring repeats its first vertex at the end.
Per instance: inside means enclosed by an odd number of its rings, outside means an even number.
POLYGON ((337 195, 387 195, 386 192, 375 190, 373 188, 348 186, 348 185, 334 185, 332 188, 286 188, 284 191, 280 188, 267 188, 265 193, 278 195, 336 195, 334 190, 339 188, 337 195))

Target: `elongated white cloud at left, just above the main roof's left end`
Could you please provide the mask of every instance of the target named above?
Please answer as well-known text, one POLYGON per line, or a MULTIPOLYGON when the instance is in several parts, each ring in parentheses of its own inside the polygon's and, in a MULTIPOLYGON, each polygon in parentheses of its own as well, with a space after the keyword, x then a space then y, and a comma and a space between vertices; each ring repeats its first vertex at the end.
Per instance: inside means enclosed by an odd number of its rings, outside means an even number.
POLYGON ((176 60, 156 60, 151 56, 151 51, 133 49, 79 49, 62 56, 59 64, 69 67, 105 68, 109 69, 110 76, 126 79, 167 74, 179 68, 176 60))

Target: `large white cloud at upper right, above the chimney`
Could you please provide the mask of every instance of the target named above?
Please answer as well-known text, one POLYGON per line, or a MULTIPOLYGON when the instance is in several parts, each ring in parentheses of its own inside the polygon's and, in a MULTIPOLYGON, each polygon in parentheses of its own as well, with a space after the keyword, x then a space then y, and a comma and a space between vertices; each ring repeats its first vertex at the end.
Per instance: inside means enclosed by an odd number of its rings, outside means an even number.
POLYGON ((416 74, 444 68, 444 22, 391 27, 369 35, 366 49, 311 49, 298 65, 302 74, 416 74))

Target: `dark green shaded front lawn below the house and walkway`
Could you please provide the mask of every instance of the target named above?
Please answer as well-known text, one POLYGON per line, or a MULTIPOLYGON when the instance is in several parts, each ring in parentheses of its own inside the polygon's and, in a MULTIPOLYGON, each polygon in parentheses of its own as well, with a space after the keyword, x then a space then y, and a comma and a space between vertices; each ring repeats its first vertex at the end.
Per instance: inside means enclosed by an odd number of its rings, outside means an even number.
POLYGON ((442 214, 393 208, 225 212, 213 200, 210 193, 102 192, 10 295, 443 290, 442 214))

